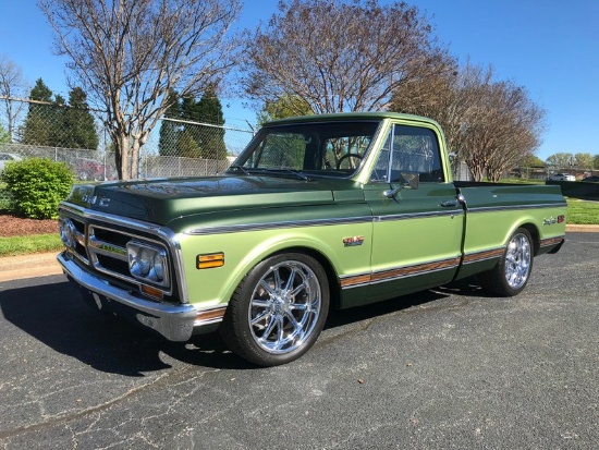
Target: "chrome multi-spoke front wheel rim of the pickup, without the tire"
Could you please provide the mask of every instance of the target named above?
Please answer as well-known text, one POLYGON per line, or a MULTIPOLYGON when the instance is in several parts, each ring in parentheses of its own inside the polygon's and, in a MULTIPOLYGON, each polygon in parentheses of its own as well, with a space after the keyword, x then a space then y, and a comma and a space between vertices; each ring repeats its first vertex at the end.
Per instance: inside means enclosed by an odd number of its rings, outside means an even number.
POLYGON ((249 300, 252 336, 271 354, 293 352, 313 333, 321 312, 321 287, 314 271, 298 260, 271 266, 249 300))

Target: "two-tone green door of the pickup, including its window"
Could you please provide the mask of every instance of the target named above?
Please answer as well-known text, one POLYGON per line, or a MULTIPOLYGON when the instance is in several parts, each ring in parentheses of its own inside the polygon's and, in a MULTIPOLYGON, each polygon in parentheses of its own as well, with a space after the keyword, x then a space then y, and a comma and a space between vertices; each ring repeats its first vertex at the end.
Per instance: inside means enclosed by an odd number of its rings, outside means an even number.
POLYGON ((456 272, 464 214, 442 161, 432 129, 391 126, 365 186, 374 215, 371 283, 378 296, 437 287, 456 272))

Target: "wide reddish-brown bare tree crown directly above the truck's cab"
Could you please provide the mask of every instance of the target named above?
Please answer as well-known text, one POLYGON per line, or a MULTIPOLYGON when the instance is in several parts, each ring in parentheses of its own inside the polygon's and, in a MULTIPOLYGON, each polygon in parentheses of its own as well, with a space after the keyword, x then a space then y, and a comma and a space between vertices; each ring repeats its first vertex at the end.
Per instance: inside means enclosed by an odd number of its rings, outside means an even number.
MULTIPOLYGON (((406 3, 280 1, 248 39, 242 83, 265 104, 298 99, 297 113, 384 109, 391 93, 436 73, 444 52, 406 3)), ((290 104, 289 107, 293 107, 290 104)))

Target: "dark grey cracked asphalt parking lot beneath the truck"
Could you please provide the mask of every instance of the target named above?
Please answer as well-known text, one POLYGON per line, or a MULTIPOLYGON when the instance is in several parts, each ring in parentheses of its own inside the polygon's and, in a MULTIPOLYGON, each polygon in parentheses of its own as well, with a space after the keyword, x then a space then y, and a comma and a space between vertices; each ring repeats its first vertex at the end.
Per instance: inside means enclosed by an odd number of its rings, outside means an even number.
POLYGON ((521 295, 469 282, 335 312, 255 368, 84 305, 63 276, 0 282, 2 449, 596 449, 598 233, 521 295))

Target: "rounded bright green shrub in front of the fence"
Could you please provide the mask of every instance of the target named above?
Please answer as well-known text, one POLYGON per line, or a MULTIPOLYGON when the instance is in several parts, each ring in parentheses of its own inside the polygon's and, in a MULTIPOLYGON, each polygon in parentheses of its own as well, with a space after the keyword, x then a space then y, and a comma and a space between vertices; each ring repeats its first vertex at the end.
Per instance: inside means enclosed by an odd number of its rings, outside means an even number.
POLYGON ((30 158, 7 165, 0 181, 12 195, 12 209, 30 219, 57 219, 58 204, 66 198, 74 183, 64 162, 30 158))

